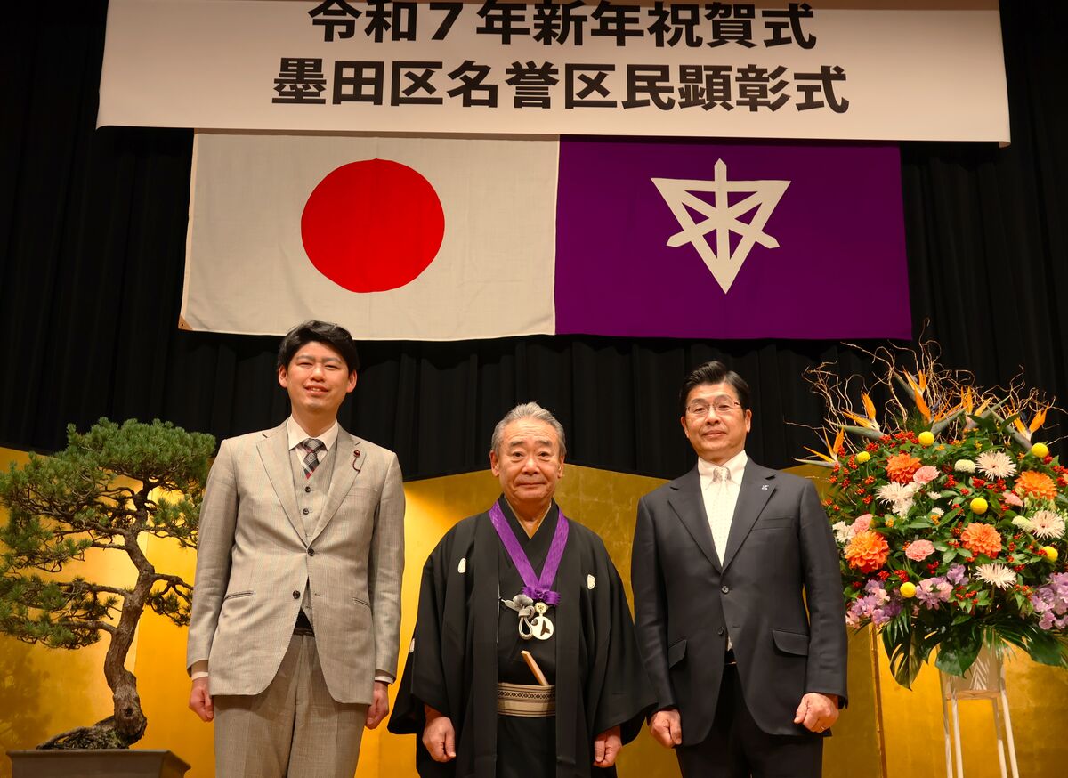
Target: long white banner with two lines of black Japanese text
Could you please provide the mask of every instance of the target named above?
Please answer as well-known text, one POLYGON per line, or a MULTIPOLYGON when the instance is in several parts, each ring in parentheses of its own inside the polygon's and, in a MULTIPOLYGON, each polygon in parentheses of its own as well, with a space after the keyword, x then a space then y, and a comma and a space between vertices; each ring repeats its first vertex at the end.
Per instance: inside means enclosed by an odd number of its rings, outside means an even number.
POLYGON ((111 0, 112 124, 1009 140, 996 0, 111 0))

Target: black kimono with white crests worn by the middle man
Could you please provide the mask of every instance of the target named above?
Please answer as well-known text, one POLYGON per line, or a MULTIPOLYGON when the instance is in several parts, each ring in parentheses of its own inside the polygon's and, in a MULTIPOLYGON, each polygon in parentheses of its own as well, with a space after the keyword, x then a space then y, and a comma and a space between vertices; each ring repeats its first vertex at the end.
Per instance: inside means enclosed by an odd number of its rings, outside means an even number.
MULTIPOLYGON (((555 502, 528 538, 502 497, 508 526, 539 575, 559 520, 555 502)), ((552 589, 555 631, 548 640, 519 637, 517 613, 502 604, 523 581, 488 513, 464 519, 423 566, 415 634, 389 730, 414 733, 423 778, 579 778, 614 776, 593 765, 594 738, 621 727, 634 738, 654 698, 623 584, 596 533, 569 522, 552 589), (530 651, 556 687, 554 717, 497 715, 498 681, 535 685, 520 651, 530 651), (423 705, 449 716, 456 759, 439 763, 423 747, 423 705)))

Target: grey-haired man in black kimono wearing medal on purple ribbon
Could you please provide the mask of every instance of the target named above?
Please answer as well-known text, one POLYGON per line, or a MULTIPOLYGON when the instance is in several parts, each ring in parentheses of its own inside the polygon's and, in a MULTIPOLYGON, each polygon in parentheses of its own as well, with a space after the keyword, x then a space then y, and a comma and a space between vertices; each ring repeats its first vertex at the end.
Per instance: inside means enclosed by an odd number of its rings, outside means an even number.
POLYGON ((389 725, 421 735, 423 778, 615 775, 651 706, 619 575, 553 500, 565 452, 549 411, 511 410, 489 452, 501 498, 445 533, 423 567, 389 725))

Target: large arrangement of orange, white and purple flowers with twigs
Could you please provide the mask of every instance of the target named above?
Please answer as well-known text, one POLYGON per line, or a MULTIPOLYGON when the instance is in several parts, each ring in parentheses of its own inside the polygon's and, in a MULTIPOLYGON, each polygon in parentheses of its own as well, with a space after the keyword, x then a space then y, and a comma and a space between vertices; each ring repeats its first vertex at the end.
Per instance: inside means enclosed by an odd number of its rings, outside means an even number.
POLYGON ((936 648, 955 675, 984 645, 1068 667, 1068 471, 1032 441, 1050 406, 1018 386, 977 389, 932 351, 868 352, 871 391, 833 365, 806 376, 827 404, 828 453, 800 461, 831 470, 846 621, 879 629, 904 686, 936 648))

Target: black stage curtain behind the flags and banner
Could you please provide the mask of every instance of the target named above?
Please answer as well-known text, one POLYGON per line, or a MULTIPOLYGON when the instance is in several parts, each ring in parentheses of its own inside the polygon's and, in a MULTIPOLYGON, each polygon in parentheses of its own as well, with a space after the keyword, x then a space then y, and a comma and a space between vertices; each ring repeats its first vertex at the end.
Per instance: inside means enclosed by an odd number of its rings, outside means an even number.
MULTIPOLYGON (((1002 5, 1011 146, 901 145, 913 336, 938 340, 946 367, 984 385, 1022 376, 1063 398, 1068 13, 1002 5)), ((54 450, 68 422, 83 429, 101 416, 217 437, 277 424, 287 414, 277 339, 176 328, 192 133, 94 129, 106 3, 64 4, 47 20, 20 9, 3 33, 0 444, 54 450)), ((837 297, 864 294, 844 278, 812 313, 834 316, 837 297)), ((846 374, 869 370, 827 341, 374 342, 361 347, 341 420, 397 451, 407 478, 424 478, 485 467, 496 420, 533 399, 564 423, 571 462, 671 477, 693 461, 677 387, 710 358, 753 386, 747 448, 775 467, 817 445, 804 425, 822 410, 803 371, 828 360, 846 374)))

